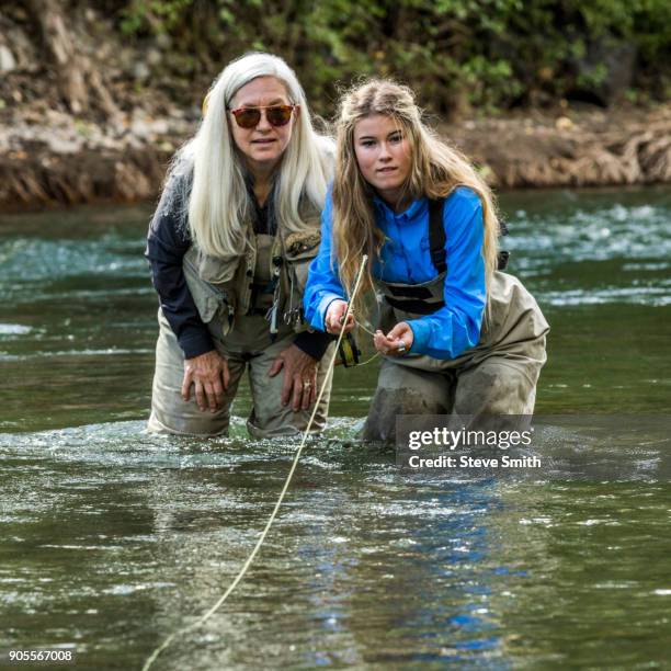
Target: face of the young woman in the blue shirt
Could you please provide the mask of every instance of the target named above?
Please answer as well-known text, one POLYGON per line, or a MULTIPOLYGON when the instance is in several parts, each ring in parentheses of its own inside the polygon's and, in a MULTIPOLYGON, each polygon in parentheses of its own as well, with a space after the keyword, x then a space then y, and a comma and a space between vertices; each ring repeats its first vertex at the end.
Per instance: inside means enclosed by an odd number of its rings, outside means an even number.
POLYGON ((386 203, 398 208, 412 169, 412 151, 405 129, 390 116, 366 116, 354 126, 354 152, 366 182, 386 203))

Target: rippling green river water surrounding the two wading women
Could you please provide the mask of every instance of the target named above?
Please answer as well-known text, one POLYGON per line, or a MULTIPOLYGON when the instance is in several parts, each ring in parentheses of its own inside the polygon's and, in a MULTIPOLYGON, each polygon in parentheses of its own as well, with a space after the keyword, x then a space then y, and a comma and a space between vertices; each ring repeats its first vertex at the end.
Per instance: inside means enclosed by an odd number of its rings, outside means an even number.
MULTIPOLYGON (((671 192, 501 206, 511 271, 553 327, 537 413, 668 414, 671 192)), ((228 587, 291 465, 295 441, 247 437, 247 387, 230 437, 143 432, 149 215, 0 217, 0 666, 50 648, 139 669, 228 587)), ((250 573, 157 668, 664 667, 668 478, 408 475, 354 440, 376 363, 337 371, 327 435, 250 573)), ((598 446, 625 458, 658 439, 598 446)))

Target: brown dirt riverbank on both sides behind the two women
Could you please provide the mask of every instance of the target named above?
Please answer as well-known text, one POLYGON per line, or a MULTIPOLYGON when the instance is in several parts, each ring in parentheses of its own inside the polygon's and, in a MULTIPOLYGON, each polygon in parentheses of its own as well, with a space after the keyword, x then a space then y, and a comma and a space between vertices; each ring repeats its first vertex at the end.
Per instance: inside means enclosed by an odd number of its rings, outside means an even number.
MULTIPOLYGON (((16 111, 18 112, 18 111, 16 111)), ((47 110, 0 124, 0 207, 8 212, 157 196, 174 150, 197 127, 141 107, 96 124, 47 110)), ((671 182, 671 105, 559 109, 465 121, 441 133, 499 190, 671 182)))

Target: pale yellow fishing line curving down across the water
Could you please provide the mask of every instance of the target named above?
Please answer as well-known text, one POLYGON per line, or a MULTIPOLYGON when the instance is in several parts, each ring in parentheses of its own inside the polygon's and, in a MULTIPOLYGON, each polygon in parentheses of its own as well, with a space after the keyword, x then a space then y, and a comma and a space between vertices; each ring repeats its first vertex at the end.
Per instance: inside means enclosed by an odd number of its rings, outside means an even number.
MULTIPOLYGON (((356 292, 359 291, 359 285, 361 284, 361 278, 363 277, 363 272, 364 272, 364 269, 366 268, 367 260, 368 260, 368 257, 366 254, 364 254, 364 257, 363 257, 363 259, 361 261, 361 266, 359 269, 359 274, 356 275, 356 282, 354 283, 354 288, 352 289, 352 293, 350 294, 350 300, 348 302, 348 308, 346 308, 344 317, 342 319, 342 323, 343 325, 348 323, 348 318, 350 317, 350 312, 352 311, 352 304, 353 304, 354 298, 356 296, 356 292)), ((331 356, 331 361, 329 362, 329 366, 327 368, 327 374, 325 376, 325 380, 328 379, 329 375, 333 371, 333 366, 336 365, 336 357, 338 356, 338 348, 340 346, 340 343, 342 341, 342 337, 343 336, 344 336, 344 329, 341 329, 340 334, 338 336, 338 341, 336 343, 336 349, 333 350, 333 356, 331 356)), ((261 549, 261 545, 265 541, 265 536, 268 535, 268 532, 270 531, 270 527, 272 526, 273 522, 275 521, 275 516, 277 515, 277 511, 280 510, 280 505, 282 505, 282 501, 284 500, 284 497, 285 497, 285 494, 286 494, 286 492, 288 490, 289 482, 292 481, 292 477, 294 476, 294 471, 296 470, 296 466, 298 465, 298 459, 300 457, 300 453, 303 452, 303 447, 305 446, 305 442, 307 440, 308 432, 310 430, 310 427, 312 425, 312 421, 315 420, 315 416, 317 414, 317 408, 319 407, 319 402, 321 401, 321 397, 323 396, 323 391, 325 391, 326 387, 327 387, 327 385, 322 385, 321 389, 319 390, 319 394, 317 395, 317 400, 315 401, 315 408, 312 409, 312 414, 310 416, 310 419, 308 420, 307 427, 305 428, 305 432, 303 433, 303 440, 300 441, 300 445, 298 445, 298 450, 296 450, 296 454, 294 455, 294 462, 292 464, 292 467, 289 468, 288 475, 286 476, 286 480, 284 481, 284 487, 282 488, 282 491, 280 492, 280 498, 277 499, 277 502, 275 503, 275 508, 273 509, 273 512, 271 513, 271 516, 269 518, 268 523, 265 524, 265 528, 261 532, 261 535, 259 536, 259 541, 257 541, 257 545, 254 545, 254 548, 252 549, 251 554, 247 558, 247 561, 242 565, 242 568, 240 569, 240 571, 236 576, 236 579, 230 583, 230 585, 228 587, 226 592, 224 592, 224 594, 218 599, 218 601, 204 615, 198 617, 198 619, 196 619, 194 623, 190 624, 189 626, 183 627, 182 629, 178 629, 177 632, 173 632, 172 634, 170 634, 170 636, 168 636, 168 638, 166 638, 166 640, 158 648, 156 648, 156 650, 149 656, 149 658, 145 662, 145 666, 143 667, 143 671, 148 671, 148 669, 156 661, 158 656, 178 636, 181 636, 183 634, 187 634, 189 632, 195 629, 196 627, 200 627, 207 619, 209 619, 219 610, 221 604, 228 599, 229 594, 236 589, 238 583, 244 577, 244 573, 247 573, 249 567, 251 566, 252 561, 254 560, 254 557, 257 556, 257 554, 261 549)))

